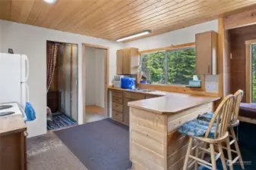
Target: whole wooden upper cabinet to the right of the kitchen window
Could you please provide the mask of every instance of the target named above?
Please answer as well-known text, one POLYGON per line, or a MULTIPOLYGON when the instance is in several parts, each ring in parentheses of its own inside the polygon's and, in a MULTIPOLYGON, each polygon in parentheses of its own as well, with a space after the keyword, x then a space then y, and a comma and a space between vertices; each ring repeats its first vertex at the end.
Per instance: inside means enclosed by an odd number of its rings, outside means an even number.
POLYGON ((217 33, 202 32, 195 35, 195 73, 198 75, 216 75, 217 33))

